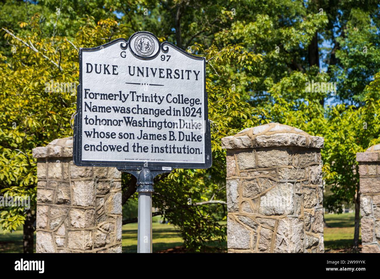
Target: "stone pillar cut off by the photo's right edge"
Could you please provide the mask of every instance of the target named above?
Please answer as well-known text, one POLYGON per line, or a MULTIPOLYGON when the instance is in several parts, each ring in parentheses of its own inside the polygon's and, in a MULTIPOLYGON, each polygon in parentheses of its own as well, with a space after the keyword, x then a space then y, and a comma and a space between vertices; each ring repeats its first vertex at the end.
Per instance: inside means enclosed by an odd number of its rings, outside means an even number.
POLYGON ((363 253, 380 253, 380 144, 356 153, 360 175, 363 253))

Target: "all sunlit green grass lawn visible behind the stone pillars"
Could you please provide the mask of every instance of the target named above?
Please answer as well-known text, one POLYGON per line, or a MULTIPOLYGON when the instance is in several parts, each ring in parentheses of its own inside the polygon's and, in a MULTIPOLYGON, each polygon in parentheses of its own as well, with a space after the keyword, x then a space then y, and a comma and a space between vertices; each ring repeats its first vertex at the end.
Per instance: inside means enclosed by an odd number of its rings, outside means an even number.
MULTIPOLYGON (((353 244, 354 213, 325 214, 325 251, 347 252, 353 244)), ((153 224, 153 252, 182 245, 182 238, 173 225, 153 224)), ((123 253, 137 251, 137 223, 123 225, 123 253)), ((359 239, 359 243, 361 239, 359 239)), ((212 244, 210 245, 212 246, 212 244)), ((22 252, 22 228, 13 233, 2 233, 0 229, 0 253, 22 252)))

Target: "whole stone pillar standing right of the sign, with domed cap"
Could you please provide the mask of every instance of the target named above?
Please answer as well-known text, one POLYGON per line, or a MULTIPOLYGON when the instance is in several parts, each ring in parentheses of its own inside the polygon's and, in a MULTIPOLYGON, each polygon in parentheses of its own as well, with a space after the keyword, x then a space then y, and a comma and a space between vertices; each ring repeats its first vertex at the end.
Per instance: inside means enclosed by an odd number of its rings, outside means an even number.
POLYGON ((222 139, 228 252, 324 252, 323 141, 278 123, 222 139))

